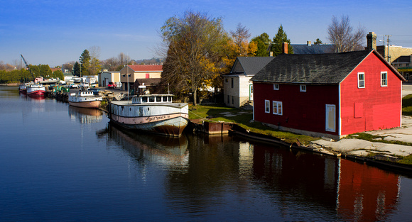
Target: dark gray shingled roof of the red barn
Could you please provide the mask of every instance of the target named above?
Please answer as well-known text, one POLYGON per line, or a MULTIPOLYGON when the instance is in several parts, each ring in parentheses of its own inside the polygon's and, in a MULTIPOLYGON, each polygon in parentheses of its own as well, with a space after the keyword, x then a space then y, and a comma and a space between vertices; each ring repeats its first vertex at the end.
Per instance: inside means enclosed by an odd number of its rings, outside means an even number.
POLYGON ((372 50, 330 54, 278 55, 251 81, 339 84, 372 50))

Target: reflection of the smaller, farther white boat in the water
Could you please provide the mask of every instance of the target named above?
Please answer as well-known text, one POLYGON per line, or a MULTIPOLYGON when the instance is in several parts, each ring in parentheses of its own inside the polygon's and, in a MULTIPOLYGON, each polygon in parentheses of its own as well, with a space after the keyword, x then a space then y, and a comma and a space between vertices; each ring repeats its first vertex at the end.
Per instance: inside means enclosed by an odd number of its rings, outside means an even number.
POLYGON ((75 106, 69 107, 69 116, 72 120, 78 120, 80 123, 90 124, 99 123, 103 119, 103 111, 99 109, 87 109, 75 106))

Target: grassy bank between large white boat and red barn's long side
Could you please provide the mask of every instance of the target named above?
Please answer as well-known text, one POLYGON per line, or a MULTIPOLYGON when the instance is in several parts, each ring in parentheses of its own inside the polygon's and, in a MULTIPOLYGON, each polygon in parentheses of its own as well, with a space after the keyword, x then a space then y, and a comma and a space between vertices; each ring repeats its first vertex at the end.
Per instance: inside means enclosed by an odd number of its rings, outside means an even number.
POLYGON ((190 106, 189 118, 200 119, 205 121, 223 121, 226 123, 237 123, 246 130, 264 135, 271 135, 276 138, 281 138, 287 143, 296 142, 296 139, 302 144, 308 144, 310 141, 318 140, 308 135, 299 135, 284 131, 278 131, 269 126, 264 126, 262 123, 252 121, 252 111, 239 110, 227 106, 190 106))

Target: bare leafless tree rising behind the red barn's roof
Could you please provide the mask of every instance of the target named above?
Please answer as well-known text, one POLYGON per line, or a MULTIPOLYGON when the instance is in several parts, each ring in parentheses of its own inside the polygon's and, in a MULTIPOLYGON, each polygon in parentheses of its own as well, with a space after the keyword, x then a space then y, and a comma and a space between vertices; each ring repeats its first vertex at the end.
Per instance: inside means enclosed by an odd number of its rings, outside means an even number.
POLYGON ((332 23, 327 27, 327 37, 335 45, 335 52, 350 52, 362 50, 366 30, 363 26, 354 30, 350 25, 349 16, 342 16, 340 21, 332 16, 332 23))

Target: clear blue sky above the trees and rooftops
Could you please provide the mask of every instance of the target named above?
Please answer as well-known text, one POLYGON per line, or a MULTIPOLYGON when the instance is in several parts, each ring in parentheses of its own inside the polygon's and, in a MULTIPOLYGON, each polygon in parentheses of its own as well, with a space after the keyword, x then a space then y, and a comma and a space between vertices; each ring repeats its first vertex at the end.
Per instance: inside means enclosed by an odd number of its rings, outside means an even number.
MULTIPOLYGON (((320 38, 327 43, 332 16, 349 16, 352 26, 362 25, 381 40, 392 35, 394 45, 412 48, 412 4, 400 1, 217 1, 217 0, 0 0, 0 61, 20 62, 20 54, 33 64, 51 67, 77 61, 83 50, 98 46, 99 59, 157 57, 159 30, 172 16, 200 11, 222 17, 224 29, 238 23, 251 36, 268 33, 282 24, 293 44, 320 38)), ((365 37, 366 43, 366 37, 365 37)), ((382 43, 378 43, 382 44, 382 43)))

